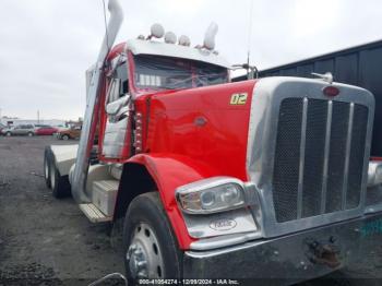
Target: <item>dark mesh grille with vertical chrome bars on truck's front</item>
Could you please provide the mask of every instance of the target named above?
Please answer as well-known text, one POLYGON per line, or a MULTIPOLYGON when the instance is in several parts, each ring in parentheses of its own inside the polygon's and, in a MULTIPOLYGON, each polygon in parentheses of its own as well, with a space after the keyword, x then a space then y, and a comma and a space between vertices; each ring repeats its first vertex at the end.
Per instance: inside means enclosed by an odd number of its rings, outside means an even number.
POLYGON ((282 102, 273 171, 278 223, 359 205, 368 114, 354 103, 282 102))

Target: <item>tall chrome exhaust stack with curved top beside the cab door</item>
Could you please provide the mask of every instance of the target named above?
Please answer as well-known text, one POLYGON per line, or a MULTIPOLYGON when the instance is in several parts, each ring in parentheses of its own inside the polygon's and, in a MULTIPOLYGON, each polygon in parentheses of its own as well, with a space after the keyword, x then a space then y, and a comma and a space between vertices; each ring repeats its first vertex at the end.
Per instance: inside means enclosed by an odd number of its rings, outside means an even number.
POLYGON ((89 166, 89 156, 93 148, 98 120, 98 112, 95 112, 95 110, 99 105, 100 76, 106 57, 116 40, 118 31, 123 21, 122 8, 118 0, 109 0, 108 10, 110 12, 110 20, 100 46, 97 62, 95 63, 95 69, 91 75, 86 97, 85 117, 82 126, 75 168, 71 178, 72 195, 75 202, 79 204, 91 202, 89 194, 86 193, 86 180, 89 166))

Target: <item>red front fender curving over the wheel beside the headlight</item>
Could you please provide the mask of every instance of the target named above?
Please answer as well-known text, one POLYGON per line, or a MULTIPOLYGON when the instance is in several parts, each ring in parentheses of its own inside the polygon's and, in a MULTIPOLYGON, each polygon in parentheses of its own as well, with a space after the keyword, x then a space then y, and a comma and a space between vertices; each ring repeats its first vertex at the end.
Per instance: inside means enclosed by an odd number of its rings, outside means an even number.
POLYGON ((176 202, 175 190, 182 184, 218 176, 218 171, 204 163, 176 154, 139 154, 131 157, 127 164, 129 163, 146 167, 158 188, 180 249, 189 249, 190 243, 195 239, 189 236, 181 211, 176 202))

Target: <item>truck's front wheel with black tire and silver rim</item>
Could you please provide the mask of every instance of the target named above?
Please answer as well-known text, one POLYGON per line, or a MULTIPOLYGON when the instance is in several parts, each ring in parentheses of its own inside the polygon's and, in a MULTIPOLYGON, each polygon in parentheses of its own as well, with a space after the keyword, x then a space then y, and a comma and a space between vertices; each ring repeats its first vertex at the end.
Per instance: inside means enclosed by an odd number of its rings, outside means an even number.
POLYGON ((157 192, 131 202, 124 218, 123 248, 130 279, 181 277, 182 253, 157 192))

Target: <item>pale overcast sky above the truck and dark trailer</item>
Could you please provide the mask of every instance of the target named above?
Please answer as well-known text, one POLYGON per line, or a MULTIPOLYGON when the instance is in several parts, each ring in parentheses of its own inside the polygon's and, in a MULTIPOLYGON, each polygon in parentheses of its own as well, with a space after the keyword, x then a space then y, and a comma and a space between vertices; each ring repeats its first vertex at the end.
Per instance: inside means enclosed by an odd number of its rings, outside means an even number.
MULTIPOLYGON (((117 43, 162 23, 195 46, 214 21, 219 53, 243 63, 249 49, 260 70, 382 39, 380 0, 120 2, 124 22, 117 43)), ((0 0, 0 116, 82 117, 85 70, 104 34, 103 0, 0 0)))

